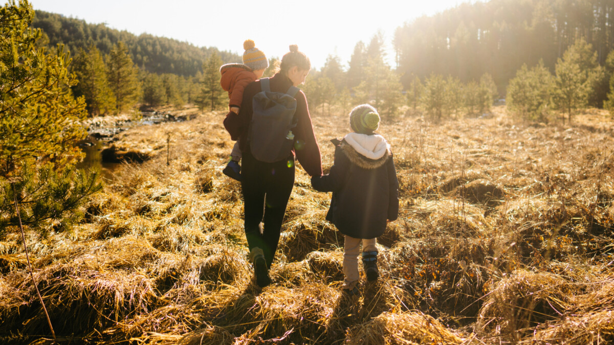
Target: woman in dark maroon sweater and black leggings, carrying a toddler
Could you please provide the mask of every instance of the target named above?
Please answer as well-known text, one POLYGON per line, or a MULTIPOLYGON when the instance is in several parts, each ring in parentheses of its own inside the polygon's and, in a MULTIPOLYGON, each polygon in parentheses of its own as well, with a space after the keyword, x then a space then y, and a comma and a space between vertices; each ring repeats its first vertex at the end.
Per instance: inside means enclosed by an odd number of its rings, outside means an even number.
MULTIPOLYGON (((290 45, 290 52, 284 55, 279 68, 279 72, 270 78, 270 88, 273 92, 286 93, 290 86, 298 87, 305 82, 311 63, 304 53, 298 51, 297 45, 290 45)), ((254 265, 257 284, 265 287, 271 284, 268 270, 277 250, 281 225, 294 185, 294 160, 298 159, 309 176, 322 176, 322 160, 303 91, 298 91, 294 96, 298 123, 292 130, 295 139, 292 154, 274 163, 254 158, 247 142, 247 130, 253 114, 252 98, 260 91, 260 80, 247 85, 238 116, 226 118, 224 125, 231 136, 239 138, 241 143, 241 189, 249 260, 254 265)))

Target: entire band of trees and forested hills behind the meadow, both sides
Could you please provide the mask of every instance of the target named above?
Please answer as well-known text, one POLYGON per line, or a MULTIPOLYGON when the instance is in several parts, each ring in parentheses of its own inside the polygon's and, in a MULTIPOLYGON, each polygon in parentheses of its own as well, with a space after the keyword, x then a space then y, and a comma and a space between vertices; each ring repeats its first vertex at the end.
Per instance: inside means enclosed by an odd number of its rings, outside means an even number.
MULTIPOLYGON (((135 36, 42 11, 33 26, 50 45, 71 49, 71 71, 82 81, 73 90, 85 96, 90 114, 139 104, 222 109, 227 98, 219 67, 241 61, 216 48, 135 36), (131 64, 126 87, 133 85, 133 91, 125 97, 115 76, 131 64)), ((614 110, 614 0, 462 4, 399 27, 395 66, 387 62, 384 42, 376 33, 367 43, 357 42, 347 64, 329 55, 321 69, 313 69, 301 86, 311 110, 347 113, 370 103, 388 118, 429 114, 442 120, 488 114, 502 97, 514 114, 543 122, 558 115, 571 121, 585 107, 614 110)), ((265 76, 272 73, 268 69, 265 76)))

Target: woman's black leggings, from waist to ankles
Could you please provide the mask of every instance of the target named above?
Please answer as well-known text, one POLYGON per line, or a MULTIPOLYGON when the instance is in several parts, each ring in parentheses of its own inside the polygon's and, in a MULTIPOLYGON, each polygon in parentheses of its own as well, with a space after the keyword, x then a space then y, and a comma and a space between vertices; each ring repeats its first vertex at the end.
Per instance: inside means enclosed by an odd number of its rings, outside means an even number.
POLYGON ((287 160, 264 163, 255 160, 246 150, 241 176, 247 244, 249 250, 254 247, 263 250, 266 265, 270 268, 294 185, 294 158, 290 156, 287 160))

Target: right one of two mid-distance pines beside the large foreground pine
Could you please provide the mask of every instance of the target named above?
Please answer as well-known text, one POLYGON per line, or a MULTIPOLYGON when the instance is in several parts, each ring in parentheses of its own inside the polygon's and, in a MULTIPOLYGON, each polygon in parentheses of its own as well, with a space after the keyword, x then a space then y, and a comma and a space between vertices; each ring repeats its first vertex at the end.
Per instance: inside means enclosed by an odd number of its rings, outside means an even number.
POLYGON ((109 54, 109 84, 115 95, 116 111, 124 112, 136 106, 141 98, 139 69, 134 65, 128 48, 119 42, 109 54))

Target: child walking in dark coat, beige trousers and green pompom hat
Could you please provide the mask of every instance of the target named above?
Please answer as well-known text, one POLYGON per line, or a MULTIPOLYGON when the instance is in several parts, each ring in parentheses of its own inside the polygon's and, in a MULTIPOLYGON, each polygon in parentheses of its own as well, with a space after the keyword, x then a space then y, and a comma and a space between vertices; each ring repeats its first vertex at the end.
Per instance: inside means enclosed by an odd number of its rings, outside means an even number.
POLYGON ((358 295, 358 256, 362 244, 362 263, 368 281, 379 277, 376 238, 386 223, 398 216, 398 180, 390 145, 375 133, 379 114, 362 104, 349 115, 352 133, 343 140, 333 139, 335 161, 324 176, 311 177, 320 192, 333 192, 326 219, 345 235, 343 290, 358 295))

